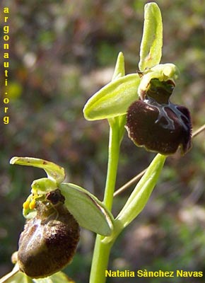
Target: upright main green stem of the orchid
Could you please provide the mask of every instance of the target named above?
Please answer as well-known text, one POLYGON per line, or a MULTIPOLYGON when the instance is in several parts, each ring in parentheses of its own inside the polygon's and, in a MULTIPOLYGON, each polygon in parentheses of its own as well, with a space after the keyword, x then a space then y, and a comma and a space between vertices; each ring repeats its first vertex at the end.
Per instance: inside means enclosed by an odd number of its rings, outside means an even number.
MULTIPOLYGON (((112 119, 110 122, 110 139, 108 151, 107 179, 105 185, 104 204, 111 211, 113 202, 113 193, 117 177, 117 165, 119 159, 119 127, 118 120, 112 119)), ((97 235, 93 253, 93 262, 90 271, 90 283, 105 283, 105 270, 110 258, 110 250, 114 241, 103 243, 104 236, 97 235)))

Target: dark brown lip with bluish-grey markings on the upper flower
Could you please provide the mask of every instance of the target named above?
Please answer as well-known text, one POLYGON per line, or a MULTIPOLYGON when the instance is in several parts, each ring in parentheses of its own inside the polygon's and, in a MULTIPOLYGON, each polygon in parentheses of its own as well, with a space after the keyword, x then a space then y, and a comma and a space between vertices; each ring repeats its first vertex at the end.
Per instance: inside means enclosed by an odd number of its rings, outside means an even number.
POLYGON ((131 104, 127 112, 127 131, 137 146, 160 154, 182 154, 191 147, 192 123, 189 110, 170 103, 172 83, 154 81, 144 96, 131 104))

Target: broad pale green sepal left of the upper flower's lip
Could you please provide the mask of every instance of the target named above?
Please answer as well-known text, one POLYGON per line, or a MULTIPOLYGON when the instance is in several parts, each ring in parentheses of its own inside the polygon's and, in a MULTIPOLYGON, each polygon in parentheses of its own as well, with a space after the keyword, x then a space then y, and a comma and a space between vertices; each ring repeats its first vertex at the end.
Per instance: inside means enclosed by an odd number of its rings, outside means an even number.
POLYGON ((138 98, 139 75, 129 74, 114 79, 95 93, 83 108, 87 120, 109 119, 124 115, 138 98))

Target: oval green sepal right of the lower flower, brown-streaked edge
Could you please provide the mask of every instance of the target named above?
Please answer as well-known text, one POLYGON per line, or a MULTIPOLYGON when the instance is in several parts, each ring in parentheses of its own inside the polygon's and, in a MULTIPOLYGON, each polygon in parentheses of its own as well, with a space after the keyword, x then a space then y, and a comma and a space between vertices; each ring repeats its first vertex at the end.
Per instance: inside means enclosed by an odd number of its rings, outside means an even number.
POLYGON ((59 187, 66 208, 80 226, 103 236, 112 233, 113 217, 97 197, 71 183, 61 183, 59 187))

